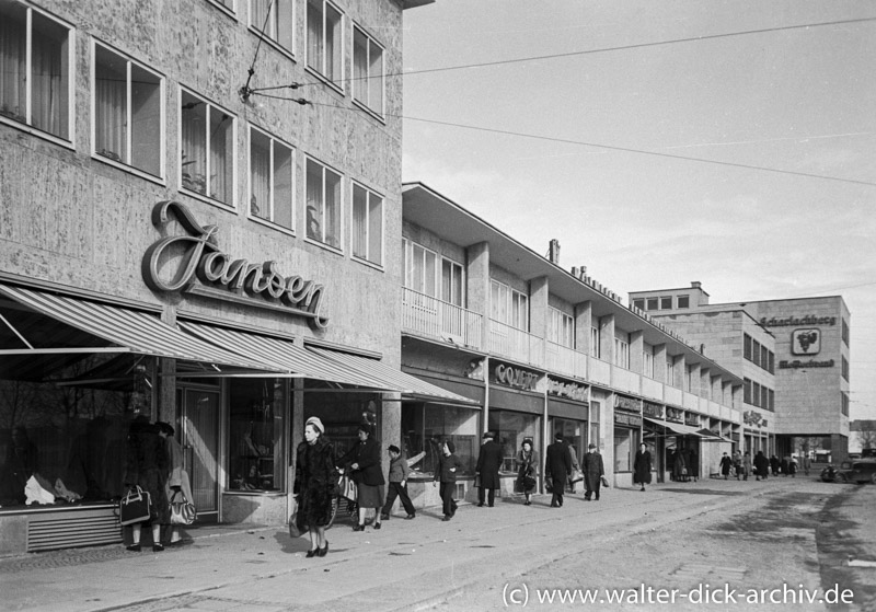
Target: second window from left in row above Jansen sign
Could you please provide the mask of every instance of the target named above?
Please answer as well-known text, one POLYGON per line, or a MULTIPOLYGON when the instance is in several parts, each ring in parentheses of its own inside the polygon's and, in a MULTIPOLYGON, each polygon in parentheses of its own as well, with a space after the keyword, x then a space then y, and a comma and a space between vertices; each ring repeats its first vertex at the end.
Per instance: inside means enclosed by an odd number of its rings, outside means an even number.
POLYGON ((161 176, 162 79, 94 46, 94 152, 161 176))

